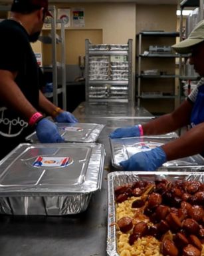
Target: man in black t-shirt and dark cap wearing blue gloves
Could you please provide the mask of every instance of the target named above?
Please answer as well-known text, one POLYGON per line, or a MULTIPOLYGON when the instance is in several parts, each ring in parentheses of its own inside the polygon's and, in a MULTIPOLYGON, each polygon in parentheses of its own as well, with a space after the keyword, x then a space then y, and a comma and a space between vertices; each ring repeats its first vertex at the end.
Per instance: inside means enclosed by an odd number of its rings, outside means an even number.
POLYGON ((37 41, 48 15, 47 0, 14 0, 11 17, 0 23, 0 159, 33 129, 42 143, 64 141, 41 112, 59 123, 76 123, 74 115, 56 107, 40 90, 43 73, 30 42, 37 41))

